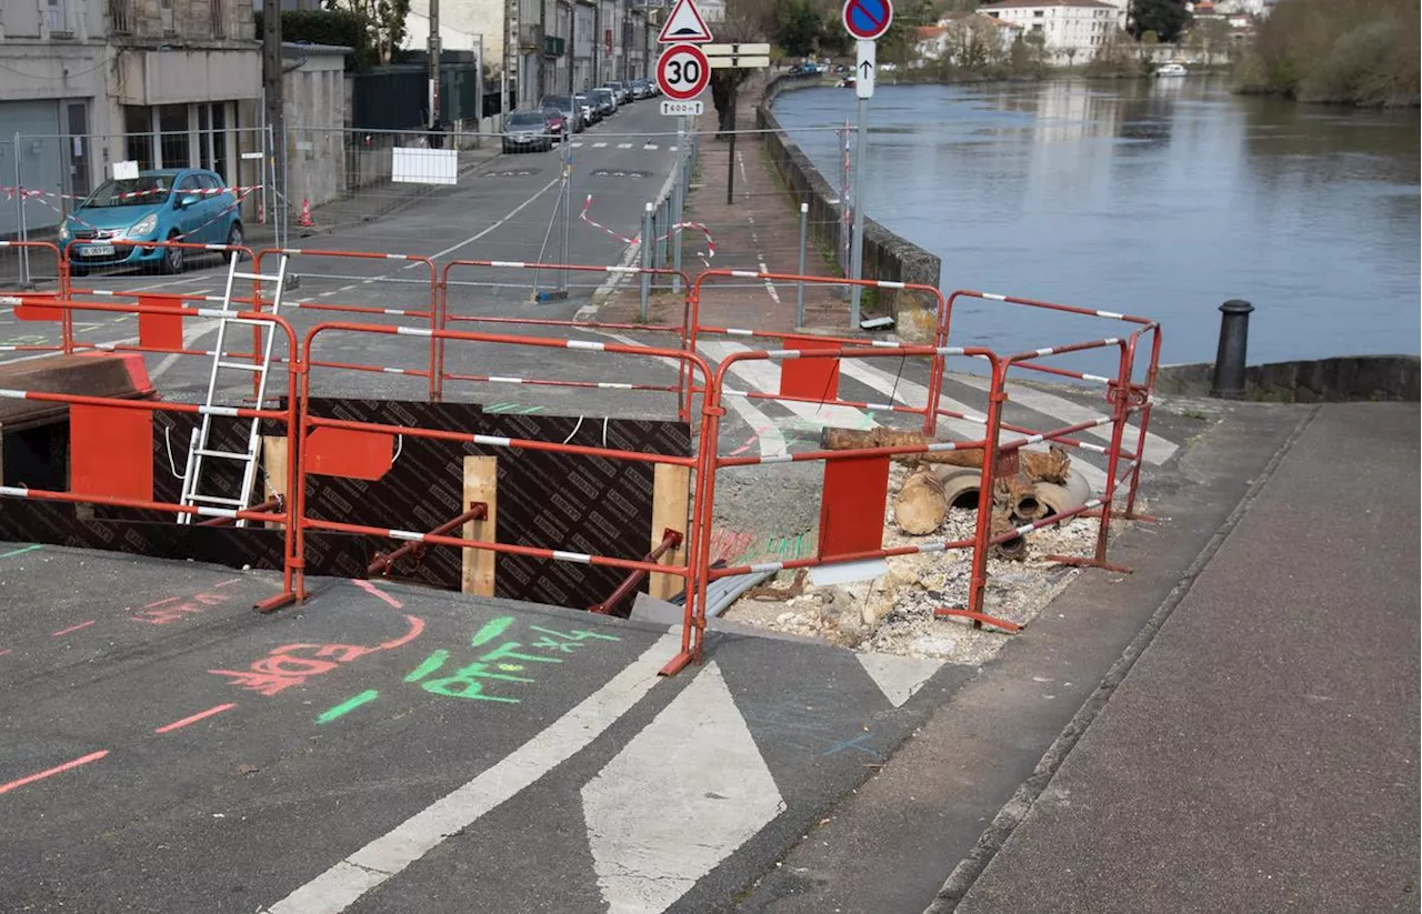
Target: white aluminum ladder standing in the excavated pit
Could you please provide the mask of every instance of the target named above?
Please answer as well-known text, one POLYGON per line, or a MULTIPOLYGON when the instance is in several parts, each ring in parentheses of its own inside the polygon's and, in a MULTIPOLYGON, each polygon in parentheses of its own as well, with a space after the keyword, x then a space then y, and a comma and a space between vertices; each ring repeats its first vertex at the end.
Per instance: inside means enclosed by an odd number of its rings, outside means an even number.
MULTIPOLYGON (((232 253, 232 262, 228 264, 228 289, 222 296, 222 311, 225 314, 232 314, 233 317, 220 317, 218 320, 218 344, 213 347, 212 353, 212 372, 208 377, 208 395, 202 404, 202 422, 192 431, 192 438, 188 442, 188 466, 183 471, 182 478, 182 498, 179 505, 188 505, 192 507, 209 509, 202 510, 208 516, 228 516, 216 515, 210 509, 219 509, 225 512, 243 510, 252 503, 252 489, 256 486, 257 480, 257 455, 262 446, 262 419, 250 419, 247 425, 247 449, 240 451, 213 451, 210 446, 212 439, 212 419, 213 416, 235 416, 236 407, 225 407, 216 402, 218 399, 218 380, 223 377, 223 372, 243 372, 246 375, 256 377, 256 407, 260 409, 262 404, 266 402, 266 387, 267 377, 272 368, 272 345, 276 343, 274 327, 266 321, 256 321, 250 318, 236 317, 242 308, 232 307, 232 287, 237 280, 253 280, 256 283, 276 283, 276 294, 272 297, 270 314, 276 316, 282 313, 282 293, 286 289, 286 254, 282 254, 282 264, 274 274, 267 273, 240 273, 237 271, 237 252, 232 253), (235 326, 247 327, 266 327, 264 343, 262 348, 262 358, 252 362, 239 362, 228 360, 228 330, 235 326), (225 495, 209 495, 202 492, 202 471, 205 461, 225 461, 242 465, 242 488, 237 498, 229 498, 225 495)), ((292 391, 287 391, 290 395, 292 391)), ((179 525, 191 525, 196 515, 181 513, 178 515, 179 525)), ((247 520, 237 520, 236 526, 249 526, 247 520)))

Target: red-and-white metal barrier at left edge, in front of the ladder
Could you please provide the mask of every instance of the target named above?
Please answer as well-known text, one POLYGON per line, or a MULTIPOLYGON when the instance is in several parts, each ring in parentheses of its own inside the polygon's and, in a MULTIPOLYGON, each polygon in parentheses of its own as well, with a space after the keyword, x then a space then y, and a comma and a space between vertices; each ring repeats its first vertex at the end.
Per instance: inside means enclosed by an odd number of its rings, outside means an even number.
MULTIPOLYGON (((132 314, 146 326, 161 328, 176 328, 176 337, 182 337, 182 321, 185 318, 216 318, 228 321, 253 323, 267 328, 286 344, 289 389, 296 389, 299 361, 293 355, 297 353, 296 331, 289 323, 272 314, 259 311, 232 311, 222 308, 192 308, 179 306, 155 306, 148 303, 73 303, 58 296, 51 297, 43 307, 60 323, 73 321, 73 317, 61 317, 61 313, 73 310, 97 311, 108 314, 132 314), (145 320, 146 318, 146 320, 145 320)), ((181 347, 138 345, 117 347, 108 344, 94 344, 75 341, 74 351, 144 351, 169 353, 178 355, 212 355, 205 351, 191 351, 181 347)), ((139 365, 131 367, 129 375, 134 381, 134 397, 94 397, 78 392, 63 391, 31 391, 31 389, 0 389, 0 398, 23 399, 44 404, 57 404, 68 409, 70 422, 70 453, 68 453, 68 489, 43 489, 26 485, 0 485, 0 496, 34 499, 41 502, 65 502, 75 505, 102 505, 132 510, 154 512, 159 515, 206 517, 216 522, 256 522, 277 525, 284 530, 284 561, 283 561, 283 590, 276 598, 259 604, 259 608, 270 610, 296 598, 296 566, 297 527, 293 523, 294 515, 290 506, 294 503, 290 480, 296 479, 299 463, 296 449, 287 449, 282 458, 283 476, 287 485, 274 489, 273 496, 256 507, 218 507, 209 505, 188 505, 173 500, 155 500, 154 495, 154 416, 162 415, 195 415, 219 416, 225 419, 262 419, 286 429, 286 436, 297 428, 299 402, 289 397, 284 407, 267 408, 263 404, 253 407, 229 407, 208 404, 169 402, 154 398, 155 392, 148 385, 146 372, 139 365), (148 498, 142 498, 146 492, 148 498)), ((171 452, 169 452, 171 453, 171 452)), ((171 466, 175 476, 178 468, 171 466)), ((269 478, 269 485, 272 483, 269 478)))

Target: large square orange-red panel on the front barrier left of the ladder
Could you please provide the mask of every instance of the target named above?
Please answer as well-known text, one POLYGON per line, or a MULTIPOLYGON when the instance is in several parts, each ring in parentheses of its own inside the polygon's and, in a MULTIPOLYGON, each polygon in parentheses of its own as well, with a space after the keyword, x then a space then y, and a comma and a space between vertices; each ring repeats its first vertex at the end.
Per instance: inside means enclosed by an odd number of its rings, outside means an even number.
POLYGON ((152 414, 70 407, 70 492, 152 502, 152 414))

